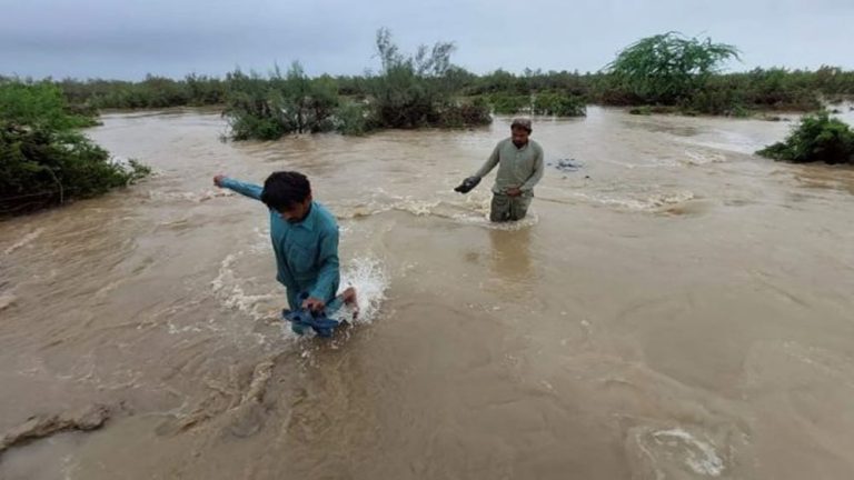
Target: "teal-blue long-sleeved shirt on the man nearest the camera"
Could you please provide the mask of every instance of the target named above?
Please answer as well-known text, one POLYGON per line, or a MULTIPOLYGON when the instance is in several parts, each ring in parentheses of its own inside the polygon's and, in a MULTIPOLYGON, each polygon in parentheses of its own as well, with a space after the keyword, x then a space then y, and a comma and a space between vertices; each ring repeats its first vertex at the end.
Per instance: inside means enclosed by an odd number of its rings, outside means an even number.
MULTIPOLYGON (((221 186, 246 197, 260 200, 264 188, 235 179, 222 179, 221 186)), ((276 280, 288 289, 288 304, 300 307, 299 294, 330 302, 338 292, 338 223, 324 206, 311 202, 302 221, 290 223, 269 209, 270 239, 276 253, 276 280)))

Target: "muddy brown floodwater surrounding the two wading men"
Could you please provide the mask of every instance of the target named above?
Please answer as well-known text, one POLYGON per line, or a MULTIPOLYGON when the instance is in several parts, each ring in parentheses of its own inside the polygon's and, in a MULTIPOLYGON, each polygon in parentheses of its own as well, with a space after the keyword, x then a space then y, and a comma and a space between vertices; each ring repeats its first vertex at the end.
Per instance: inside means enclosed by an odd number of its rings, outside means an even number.
MULTIPOLYGON (((791 122, 536 119, 528 219, 460 196, 508 131, 222 143, 199 111, 88 133, 157 177, 0 223, 2 479, 854 478, 854 170, 752 156, 791 122), (360 320, 278 320, 267 216, 307 173, 360 320)), ((848 119, 851 121, 851 119, 848 119)))

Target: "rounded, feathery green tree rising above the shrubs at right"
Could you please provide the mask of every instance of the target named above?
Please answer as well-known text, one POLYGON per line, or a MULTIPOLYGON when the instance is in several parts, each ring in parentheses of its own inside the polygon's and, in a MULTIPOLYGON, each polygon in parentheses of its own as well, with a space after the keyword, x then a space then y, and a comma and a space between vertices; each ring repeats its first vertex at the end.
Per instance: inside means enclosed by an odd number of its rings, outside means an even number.
POLYGON ((625 48, 606 68, 610 80, 647 103, 677 104, 703 89, 738 49, 677 32, 647 37, 625 48))

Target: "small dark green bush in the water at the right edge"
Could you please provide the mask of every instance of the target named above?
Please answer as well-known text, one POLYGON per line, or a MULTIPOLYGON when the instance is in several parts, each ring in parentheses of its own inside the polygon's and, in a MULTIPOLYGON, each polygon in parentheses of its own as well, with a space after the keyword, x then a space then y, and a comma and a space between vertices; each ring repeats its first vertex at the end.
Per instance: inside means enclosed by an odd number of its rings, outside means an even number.
POLYGON ((756 152, 774 160, 796 163, 822 161, 854 164, 854 131, 826 111, 805 116, 784 142, 756 152))

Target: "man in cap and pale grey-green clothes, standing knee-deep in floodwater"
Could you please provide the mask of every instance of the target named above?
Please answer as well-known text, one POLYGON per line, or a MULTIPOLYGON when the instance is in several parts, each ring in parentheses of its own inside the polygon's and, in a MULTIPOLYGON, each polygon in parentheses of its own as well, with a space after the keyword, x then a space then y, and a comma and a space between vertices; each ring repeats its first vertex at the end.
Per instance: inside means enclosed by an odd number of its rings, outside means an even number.
POLYGON ((525 218, 534 198, 534 186, 543 178, 543 147, 529 139, 530 132, 529 119, 514 119, 510 138, 499 141, 480 170, 454 189, 467 193, 498 166, 489 212, 489 220, 494 222, 525 218))

